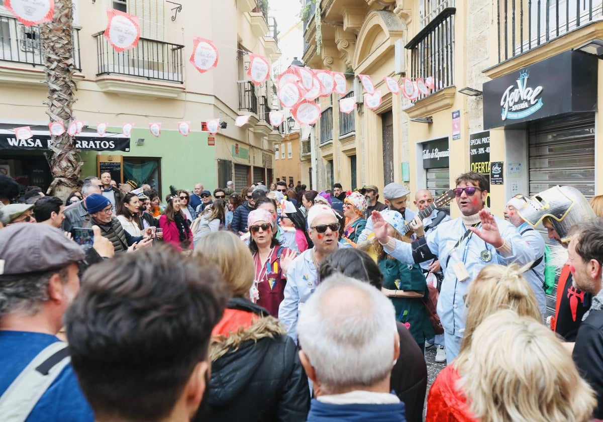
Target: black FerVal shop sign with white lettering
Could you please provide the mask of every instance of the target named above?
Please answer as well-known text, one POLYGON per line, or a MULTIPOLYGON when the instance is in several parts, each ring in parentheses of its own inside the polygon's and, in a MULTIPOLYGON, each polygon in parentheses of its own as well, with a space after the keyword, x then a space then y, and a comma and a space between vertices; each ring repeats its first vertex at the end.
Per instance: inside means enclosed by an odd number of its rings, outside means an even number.
POLYGON ((566 51, 484 84, 484 129, 596 110, 597 58, 566 51))

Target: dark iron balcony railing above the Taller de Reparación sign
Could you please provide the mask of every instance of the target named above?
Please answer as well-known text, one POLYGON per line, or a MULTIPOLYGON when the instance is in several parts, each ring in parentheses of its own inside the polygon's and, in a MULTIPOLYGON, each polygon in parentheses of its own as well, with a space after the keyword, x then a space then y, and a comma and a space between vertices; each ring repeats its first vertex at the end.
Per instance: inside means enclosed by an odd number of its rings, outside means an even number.
MULTIPOLYGON (((411 50, 411 78, 434 77, 434 92, 453 86, 454 14, 447 7, 423 28, 408 44, 411 50)), ((433 93, 421 94, 417 101, 433 93)))

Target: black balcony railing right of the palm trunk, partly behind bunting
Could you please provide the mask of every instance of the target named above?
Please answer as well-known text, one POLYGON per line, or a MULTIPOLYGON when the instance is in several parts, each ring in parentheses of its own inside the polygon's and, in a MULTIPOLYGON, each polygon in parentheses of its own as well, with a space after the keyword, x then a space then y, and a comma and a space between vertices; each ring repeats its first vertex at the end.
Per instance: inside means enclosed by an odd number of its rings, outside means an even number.
POLYGON ((142 38, 138 45, 117 52, 103 36, 96 33, 96 75, 120 74, 147 79, 183 83, 183 45, 142 38))

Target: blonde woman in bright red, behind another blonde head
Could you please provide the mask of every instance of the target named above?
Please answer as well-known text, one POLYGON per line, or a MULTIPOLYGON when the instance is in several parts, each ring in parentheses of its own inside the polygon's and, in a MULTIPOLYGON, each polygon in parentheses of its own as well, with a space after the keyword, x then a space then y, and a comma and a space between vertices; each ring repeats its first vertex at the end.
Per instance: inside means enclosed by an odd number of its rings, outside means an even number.
POLYGON ((526 269, 491 264, 482 268, 471 283, 465 299, 467 321, 463 342, 456 359, 438 374, 429 390, 426 422, 476 420, 464 392, 457 388, 458 380, 466 375, 473 332, 485 318, 500 309, 511 309, 540 321, 534 292, 522 277, 526 269))

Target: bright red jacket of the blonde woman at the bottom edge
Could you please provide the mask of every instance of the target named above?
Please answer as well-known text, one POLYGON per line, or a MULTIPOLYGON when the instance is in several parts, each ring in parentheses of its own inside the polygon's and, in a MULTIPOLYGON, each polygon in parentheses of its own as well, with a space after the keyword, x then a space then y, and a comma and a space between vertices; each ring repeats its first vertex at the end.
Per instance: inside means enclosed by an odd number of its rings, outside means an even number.
POLYGON ((459 379, 451 365, 438 374, 429 389, 425 422, 479 422, 469 410, 463 392, 456 389, 459 379))

